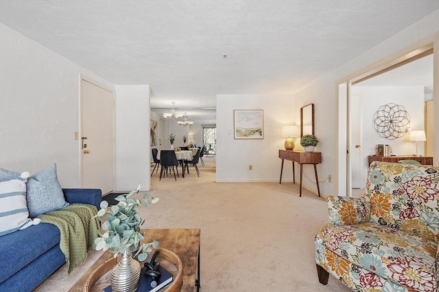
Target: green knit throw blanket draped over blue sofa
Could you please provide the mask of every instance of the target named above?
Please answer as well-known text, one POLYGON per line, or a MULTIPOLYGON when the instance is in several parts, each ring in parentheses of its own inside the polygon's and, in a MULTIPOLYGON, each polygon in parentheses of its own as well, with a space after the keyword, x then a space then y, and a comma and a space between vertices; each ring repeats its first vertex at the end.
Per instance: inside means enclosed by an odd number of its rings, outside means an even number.
POLYGON ((38 215, 41 222, 55 224, 60 229, 60 248, 67 263, 67 274, 83 263, 87 250, 95 250, 99 220, 97 208, 91 204, 70 204, 57 211, 38 215))

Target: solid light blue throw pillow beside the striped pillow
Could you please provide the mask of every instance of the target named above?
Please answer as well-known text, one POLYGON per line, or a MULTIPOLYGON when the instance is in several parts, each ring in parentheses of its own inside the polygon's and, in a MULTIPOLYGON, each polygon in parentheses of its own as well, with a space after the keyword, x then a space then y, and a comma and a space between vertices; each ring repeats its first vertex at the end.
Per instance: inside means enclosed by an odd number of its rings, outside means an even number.
MULTIPOLYGON (((16 172, 0 168, 0 181, 14 177, 17 177, 16 172)), ((64 199, 64 193, 56 176, 56 164, 29 177, 26 185, 27 209, 31 218, 69 205, 64 199)))

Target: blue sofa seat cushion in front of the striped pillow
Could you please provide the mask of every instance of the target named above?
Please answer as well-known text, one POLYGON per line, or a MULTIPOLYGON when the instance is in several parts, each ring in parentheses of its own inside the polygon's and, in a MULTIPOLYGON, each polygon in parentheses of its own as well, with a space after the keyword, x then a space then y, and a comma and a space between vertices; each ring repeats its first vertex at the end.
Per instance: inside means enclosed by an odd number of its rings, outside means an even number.
POLYGON ((40 223, 0 237, 0 282, 60 243, 54 224, 40 223))

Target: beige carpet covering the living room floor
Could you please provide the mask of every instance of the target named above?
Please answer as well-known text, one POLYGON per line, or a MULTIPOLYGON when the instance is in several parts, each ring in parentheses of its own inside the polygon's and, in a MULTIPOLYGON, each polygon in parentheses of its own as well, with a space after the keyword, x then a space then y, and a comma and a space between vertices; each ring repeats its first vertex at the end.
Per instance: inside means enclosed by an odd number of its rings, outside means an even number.
MULTIPOLYGON (((213 291, 351 291, 330 276, 318 282, 313 237, 327 221, 323 198, 292 183, 215 183, 215 158, 200 178, 152 176, 157 204, 142 208, 145 228, 201 228, 201 289, 213 291)), ((136 186, 133 186, 136 187, 136 186)), ((67 291, 99 254, 67 276, 62 267, 36 291, 67 291)))

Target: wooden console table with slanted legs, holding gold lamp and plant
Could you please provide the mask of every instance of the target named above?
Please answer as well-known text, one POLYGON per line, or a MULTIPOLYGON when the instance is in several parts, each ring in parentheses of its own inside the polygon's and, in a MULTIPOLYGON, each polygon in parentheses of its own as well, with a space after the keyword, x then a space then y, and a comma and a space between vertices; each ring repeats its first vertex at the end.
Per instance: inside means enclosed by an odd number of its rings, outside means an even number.
POLYGON ((312 164, 314 165, 314 173, 316 174, 316 184, 318 196, 320 197, 320 187, 318 185, 318 175, 317 175, 317 164, 322 162, 321 152, 298 152, 294 150, 279 150, 279 158, 282 159, 281 164, 281 178, 279 179, 279 184, 282 183, 282 172, 283 172, 283 161, 285 159, 292 161, 293 164, 293 183, 296 183, 295 172, 294 172, 294 162, 300 164, 300 197, 302 196, 302 174, 303 165, 312 164))

